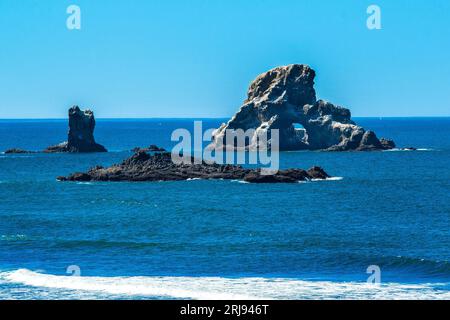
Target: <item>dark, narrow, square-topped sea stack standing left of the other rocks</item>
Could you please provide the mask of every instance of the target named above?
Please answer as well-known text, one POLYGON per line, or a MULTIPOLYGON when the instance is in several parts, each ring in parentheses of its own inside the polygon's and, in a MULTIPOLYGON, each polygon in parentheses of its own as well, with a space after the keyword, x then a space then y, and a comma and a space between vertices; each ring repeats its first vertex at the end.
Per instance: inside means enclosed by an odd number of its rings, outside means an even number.
POLYGON ((67 142, 48 147, 44 152, 107 152, 95 142, 95 117, 91 110, 81 110, 78 106, 69 109, 69 133, 67 142))

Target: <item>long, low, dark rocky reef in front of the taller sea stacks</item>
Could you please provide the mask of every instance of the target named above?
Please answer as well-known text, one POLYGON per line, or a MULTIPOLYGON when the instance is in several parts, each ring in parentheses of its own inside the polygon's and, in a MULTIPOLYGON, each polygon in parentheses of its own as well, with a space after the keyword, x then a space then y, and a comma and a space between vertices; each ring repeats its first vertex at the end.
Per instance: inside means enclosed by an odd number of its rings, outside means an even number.
POLYGON ((319 167, 309 170, 280 170, 263 175, 259 169, 245 169, 235 165, 216 163, 177 164, 168 152, 153 155, 138 151, 121 164, 108 168, 97 166, 88 172, 77 172, 59 181, 180 181, 188 179, 236 179, 250 183, 295 183, 313 179, 326 179, 328 174, 319 167))

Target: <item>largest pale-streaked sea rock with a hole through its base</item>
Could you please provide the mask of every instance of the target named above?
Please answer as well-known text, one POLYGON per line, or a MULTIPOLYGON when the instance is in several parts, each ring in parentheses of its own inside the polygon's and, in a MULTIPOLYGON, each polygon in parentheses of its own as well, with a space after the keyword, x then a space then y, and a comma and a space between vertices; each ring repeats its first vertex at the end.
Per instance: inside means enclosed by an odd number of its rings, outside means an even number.
MULTIPOLYGON (((258 147, 257 135, 278 129, 280 150, 383 150, 392 149, 392 140, 380 141, 351 120, 350 110, 316 99, 315 72, 306 65, 289 65, 258 76, 248 90, 240 110, 213 134, 211 147, 226 141, 227 129, 255 129, 246 147, 258 147), (303 128, 296 128, 300 124, 303 128)), ((270 134, 269 143, 270 143, 270 134)))

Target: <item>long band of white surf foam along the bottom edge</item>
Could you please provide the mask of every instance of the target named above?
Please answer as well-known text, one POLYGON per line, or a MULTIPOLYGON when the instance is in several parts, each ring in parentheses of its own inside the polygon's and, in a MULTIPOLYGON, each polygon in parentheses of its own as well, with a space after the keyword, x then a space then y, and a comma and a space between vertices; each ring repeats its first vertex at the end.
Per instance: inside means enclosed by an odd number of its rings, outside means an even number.
POLYGON ((25 286, 97 292, 100 295, 175 299, 450 299, 448 284, 380 285, 363 282, 305 281, 283 278, 72 277, 26 269, 0 273, 0 280, 25 286))

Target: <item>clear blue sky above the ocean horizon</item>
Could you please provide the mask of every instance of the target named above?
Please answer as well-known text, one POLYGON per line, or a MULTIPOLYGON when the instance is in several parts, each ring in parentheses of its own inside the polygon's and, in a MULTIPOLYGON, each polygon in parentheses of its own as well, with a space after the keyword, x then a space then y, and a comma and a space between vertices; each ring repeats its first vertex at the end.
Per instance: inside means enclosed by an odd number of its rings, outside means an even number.
POLYGON ((354 116, 450 116, 449 17, 448 0, 0 0, 0 118, 229 117, 290 63, 354 116))

